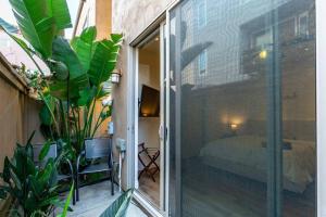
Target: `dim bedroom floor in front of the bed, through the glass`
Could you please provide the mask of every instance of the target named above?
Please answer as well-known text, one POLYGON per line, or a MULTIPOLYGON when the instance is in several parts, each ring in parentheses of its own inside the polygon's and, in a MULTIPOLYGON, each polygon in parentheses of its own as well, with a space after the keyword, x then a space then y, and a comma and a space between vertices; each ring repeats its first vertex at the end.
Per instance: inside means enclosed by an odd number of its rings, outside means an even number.
MULTIPOLYGON (((266 188, 259 181, 190 161, 183 171, 183 212, 187 217, 266 216, 266 188), (189 165, 189 166, 187 166, 189 165), (195 166, 196 165, 196 166, 195 166)), ((314 188, 284 192, 284 216, 314 216, 314 188)))

